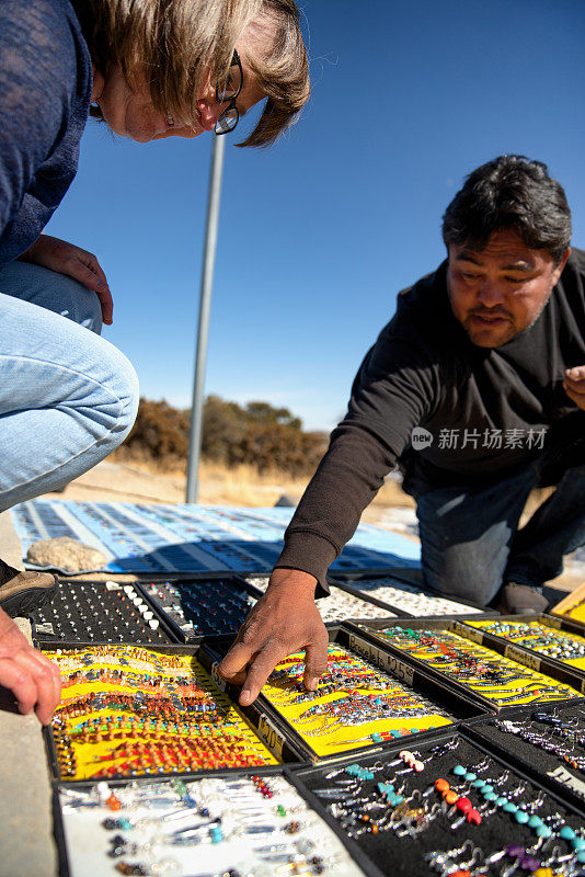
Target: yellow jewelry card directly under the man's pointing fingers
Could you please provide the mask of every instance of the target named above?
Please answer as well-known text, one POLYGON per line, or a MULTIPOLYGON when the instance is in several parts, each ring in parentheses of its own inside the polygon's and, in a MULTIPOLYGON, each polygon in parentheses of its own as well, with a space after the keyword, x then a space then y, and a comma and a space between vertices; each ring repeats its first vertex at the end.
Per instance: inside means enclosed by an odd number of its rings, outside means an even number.
POLYGON ((394 676, 334 643, 317 692, 305 690, 302 672, 303 653, 296 652, 277 664, 262 693, 318 756, 409 738, 454 721, 394 676))

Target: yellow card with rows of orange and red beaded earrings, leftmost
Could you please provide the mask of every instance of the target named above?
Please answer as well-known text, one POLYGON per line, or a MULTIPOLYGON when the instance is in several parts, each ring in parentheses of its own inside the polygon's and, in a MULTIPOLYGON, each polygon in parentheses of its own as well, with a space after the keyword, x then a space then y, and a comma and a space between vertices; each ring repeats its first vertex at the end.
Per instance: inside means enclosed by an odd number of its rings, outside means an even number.
POLYGON ((62 778, 277 763, 192 656, 135 646, 45 654, 64 686, 53 719, 62 778))

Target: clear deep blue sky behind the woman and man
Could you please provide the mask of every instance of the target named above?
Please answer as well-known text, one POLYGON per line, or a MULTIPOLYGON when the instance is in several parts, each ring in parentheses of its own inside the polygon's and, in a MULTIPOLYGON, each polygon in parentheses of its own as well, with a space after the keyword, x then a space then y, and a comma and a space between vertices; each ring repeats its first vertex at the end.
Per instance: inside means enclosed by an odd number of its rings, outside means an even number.
MULTIPOLYGON (((546 161, 585 248, 585 3, 301 7, 310 104, 276 147, 226 150, 206 392, 330 429, 397 292, 443 260, 441 214, 474 167, 502 152, 546 161)), ((47 228, 97 254, 115 303, 104 335, 144 396, 180 407, 210 147, 210 136, 134 144, 90 123, 47 228)))

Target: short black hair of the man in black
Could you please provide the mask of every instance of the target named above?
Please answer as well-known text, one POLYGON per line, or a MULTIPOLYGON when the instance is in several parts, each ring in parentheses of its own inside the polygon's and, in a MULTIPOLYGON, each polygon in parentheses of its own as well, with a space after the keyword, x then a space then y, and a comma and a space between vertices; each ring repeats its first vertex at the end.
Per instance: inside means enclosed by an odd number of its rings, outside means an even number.
POLYGON ((541 161, 500 156, 472 171, 443 217, 446 247, 482 250, 494 231, 513 228, 527 247, 559 263, 571 242, 564 190, 541 161))

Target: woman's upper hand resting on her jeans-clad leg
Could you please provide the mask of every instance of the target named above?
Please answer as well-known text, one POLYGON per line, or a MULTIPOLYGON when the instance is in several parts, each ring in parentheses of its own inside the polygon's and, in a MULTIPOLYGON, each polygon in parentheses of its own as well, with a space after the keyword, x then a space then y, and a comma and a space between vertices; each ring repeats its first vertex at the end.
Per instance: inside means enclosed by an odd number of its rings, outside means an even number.
POLYGON ((102 320, 106 326, 112 326, 114 303, 107 280, 97 258, 74 243, 68 243, 50 235, 41 235, 32 247, 20 257, 22 262, 33 262, 43 265, 58 274, 67 274, 79 281, 97 295, 102 306, 102 320))

